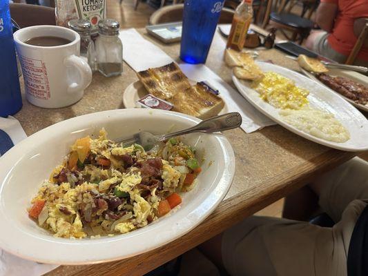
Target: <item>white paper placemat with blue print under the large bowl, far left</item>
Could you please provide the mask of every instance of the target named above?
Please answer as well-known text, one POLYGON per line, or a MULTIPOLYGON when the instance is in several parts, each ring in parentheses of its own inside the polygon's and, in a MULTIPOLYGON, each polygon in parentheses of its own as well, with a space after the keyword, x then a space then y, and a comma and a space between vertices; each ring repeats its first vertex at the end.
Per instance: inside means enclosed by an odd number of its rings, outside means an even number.
MULTIPOLYGON (((0 152, 5 153, 26 137, 17 119, 11 116, 0 117, 0 152)), ((38 264, 6 253, 0 248, 0 276, 39 276, 55 268, 55 264, 38 264)))

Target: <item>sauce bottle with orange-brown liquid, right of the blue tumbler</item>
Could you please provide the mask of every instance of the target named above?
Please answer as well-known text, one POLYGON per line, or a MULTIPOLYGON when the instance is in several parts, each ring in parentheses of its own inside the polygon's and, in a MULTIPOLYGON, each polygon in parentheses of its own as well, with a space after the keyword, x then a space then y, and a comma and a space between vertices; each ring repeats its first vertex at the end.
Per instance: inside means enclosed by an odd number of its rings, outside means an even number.
POLYGON ((241 51, 244 48, 246 33, 253 19, 253 0, 243 0, 236 8, 226 48, 241 51))

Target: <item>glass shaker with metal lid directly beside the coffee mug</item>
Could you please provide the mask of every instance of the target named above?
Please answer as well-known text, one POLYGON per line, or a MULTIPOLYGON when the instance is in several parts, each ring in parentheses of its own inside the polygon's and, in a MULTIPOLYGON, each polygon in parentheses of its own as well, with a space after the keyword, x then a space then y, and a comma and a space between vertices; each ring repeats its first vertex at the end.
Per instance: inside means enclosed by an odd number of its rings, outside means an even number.
POLYGON ((86 59, 92 72, 95 72, 97 70, 95 43, 90 38, 92 30, 90 21, 86 19, 72 19, 68 22, 68 26, 70 29, 78 32, 81 37, 80 55, 86 59))

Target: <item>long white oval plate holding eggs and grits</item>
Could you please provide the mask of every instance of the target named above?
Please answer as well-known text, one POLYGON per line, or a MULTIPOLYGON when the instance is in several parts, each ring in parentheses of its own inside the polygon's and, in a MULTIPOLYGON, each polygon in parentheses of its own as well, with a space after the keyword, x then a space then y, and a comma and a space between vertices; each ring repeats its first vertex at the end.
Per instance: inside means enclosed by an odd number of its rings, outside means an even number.
POLYGON ((338 95, 338 93, 332 92, 330 89, 322 86, 321 83, 318 83, 318 81, 308 79, 298 72, 294 72, 287 68, 276 66, 267 62, 256 61, 256 63, 264 72, 276 72, 280 75, 283 75, 284 77, 295 81, 297 86, 307 88, 307 90, 309 90, 308 100, 310 106, 332 113, 336 117, 336 119, 338 119, 338 121, 340 121, 341 124, 345 126, 347 130, 349 130, 350 139, 345 143, 336 143, 320 139, 313 135, 309 135, 306 132, 298 130, 298 128, 295 128, 290 124, 282 121, 282 117, 278 114, 280 110, 274 108, 266 101, 263 101, 260 98, 259 93, 250 88, 248 81, 242 81, 233 76, 233 82, 235 83, 235 86, 238 88, 240 93, 255 108, 260 110, 260 112, 270 117, 271 119, 273 119, 273 121, 276 121, 278 124, 280 124, 284 128, 287 128, 291 132, 294 132, 297 135, 300 135, 301 137, 314 141, 318 144, 329 146, 331 148, 337 148, 338 150, 368 150, 368 120, 362 115, 362 113, 354 108, 354 106, 351 106, 350 103, 348 103, 347 101, 345 101, 345 99, 338 95))

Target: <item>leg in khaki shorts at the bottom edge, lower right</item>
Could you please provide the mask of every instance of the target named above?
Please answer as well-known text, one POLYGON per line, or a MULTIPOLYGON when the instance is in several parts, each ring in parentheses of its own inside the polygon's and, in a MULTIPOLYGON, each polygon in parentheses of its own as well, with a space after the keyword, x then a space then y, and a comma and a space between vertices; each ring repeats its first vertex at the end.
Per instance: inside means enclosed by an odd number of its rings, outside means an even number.
MULTIPOLYGON (((224 232, 222 261, 232 276, 346 276, 332 263, 339 240, 331 228, 253 216, 224 232)), ((345 264, 346 258, 338 262, 345 264)))

